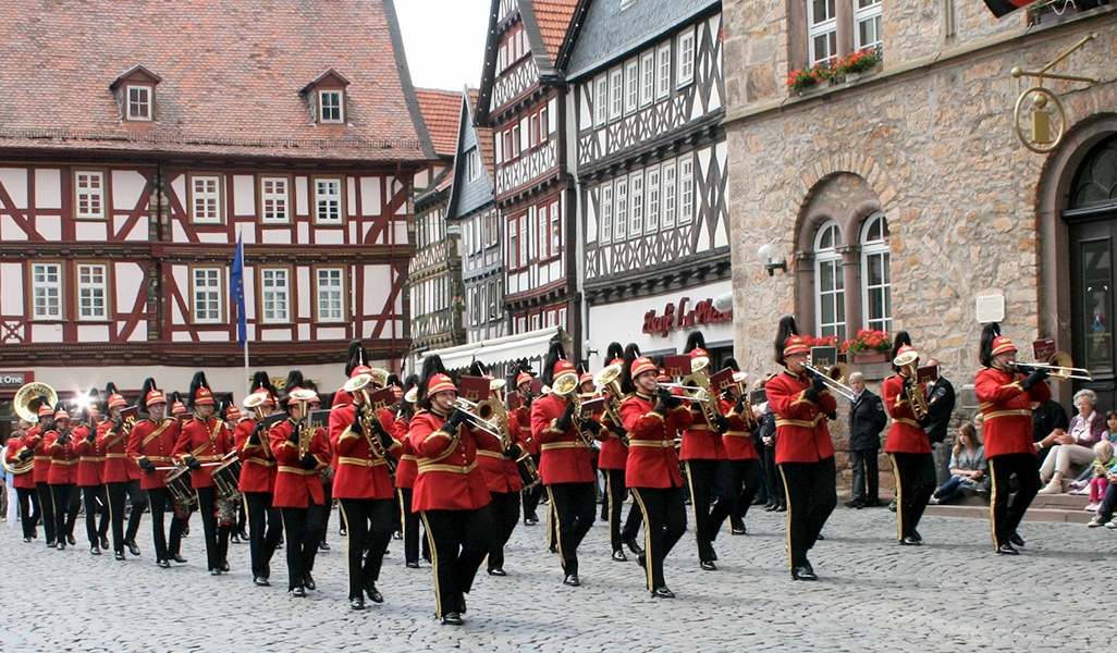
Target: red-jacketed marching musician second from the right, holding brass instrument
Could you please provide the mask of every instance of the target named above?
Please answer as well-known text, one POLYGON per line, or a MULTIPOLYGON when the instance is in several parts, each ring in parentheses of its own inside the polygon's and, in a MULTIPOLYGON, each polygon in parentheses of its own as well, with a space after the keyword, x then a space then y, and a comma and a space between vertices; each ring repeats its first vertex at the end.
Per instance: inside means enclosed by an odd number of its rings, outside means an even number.
MULTIPOLYGON (((923 385, 915 380, 918 358, 904 367, 895 363, 897 356, 914 352, 907 332, 897 332, 892 336, 892 369, 896 374, 886 378, 881 388, 885 409, 892 419, 885 452, 892 460, 892 472, 896 474, 896 538, 905 546, 923 544, 923 536, 916 527, 927 501, 935 493, 935 460, 930 440, 919 425, 909 394, 924 393, 923 385)), ((923 396, 926 402, 926 396, 923 396)))

